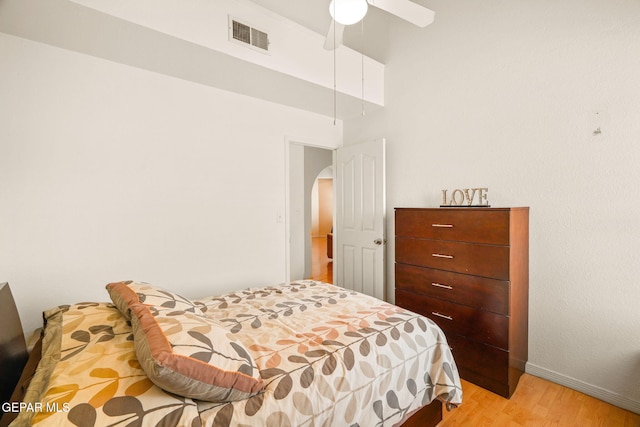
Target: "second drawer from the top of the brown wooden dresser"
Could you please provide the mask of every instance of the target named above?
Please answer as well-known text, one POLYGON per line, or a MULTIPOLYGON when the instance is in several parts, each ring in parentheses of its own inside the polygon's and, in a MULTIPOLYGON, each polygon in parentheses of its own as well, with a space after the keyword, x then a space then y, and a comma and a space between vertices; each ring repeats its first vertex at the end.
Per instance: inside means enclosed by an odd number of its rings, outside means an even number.
POLYGON ((396 262, 509 280, 509 247, 396 237, 396 262))

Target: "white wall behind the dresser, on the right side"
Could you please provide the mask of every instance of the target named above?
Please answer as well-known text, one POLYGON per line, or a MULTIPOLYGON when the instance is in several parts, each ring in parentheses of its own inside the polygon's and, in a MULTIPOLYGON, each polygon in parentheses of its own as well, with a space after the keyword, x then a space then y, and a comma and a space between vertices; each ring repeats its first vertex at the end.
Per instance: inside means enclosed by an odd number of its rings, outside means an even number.
POLYGON ((527 369, 640 412, 640 3, 427 3, 345 141, 387 138, 389 218, 470 186, 530 206, 527 369))

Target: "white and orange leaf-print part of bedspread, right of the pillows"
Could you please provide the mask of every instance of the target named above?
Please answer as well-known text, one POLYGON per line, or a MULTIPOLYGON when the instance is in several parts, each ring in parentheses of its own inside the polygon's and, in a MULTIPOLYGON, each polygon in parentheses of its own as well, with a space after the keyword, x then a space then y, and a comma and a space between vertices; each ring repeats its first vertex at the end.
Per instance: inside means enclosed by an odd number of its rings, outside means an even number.
POLYGON ((429 319, 314 281, 195 301, 252 352, 266 383, 245 401, 198 402, 207 426, 393 426, 440 399, 457 368, 429 319))

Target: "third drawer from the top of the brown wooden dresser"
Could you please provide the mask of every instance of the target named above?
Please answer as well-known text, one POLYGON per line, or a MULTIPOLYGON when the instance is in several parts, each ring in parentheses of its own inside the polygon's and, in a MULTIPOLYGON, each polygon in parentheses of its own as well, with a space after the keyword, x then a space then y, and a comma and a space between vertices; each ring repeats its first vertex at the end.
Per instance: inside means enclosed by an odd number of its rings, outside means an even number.
POLYGON ((396 289, 509 314, 509 282, 396 264, 396 289))

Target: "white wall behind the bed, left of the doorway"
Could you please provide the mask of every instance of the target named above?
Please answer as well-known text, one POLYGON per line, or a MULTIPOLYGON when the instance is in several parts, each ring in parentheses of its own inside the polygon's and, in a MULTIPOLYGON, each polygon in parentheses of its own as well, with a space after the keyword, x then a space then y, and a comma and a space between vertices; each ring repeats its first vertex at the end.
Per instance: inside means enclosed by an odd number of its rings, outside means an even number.
POLYGON ((0 57, 0 281, 26 331, 110 281, 285 280, 285 138, 336 147, 332 118, 1 33, 0 57))

